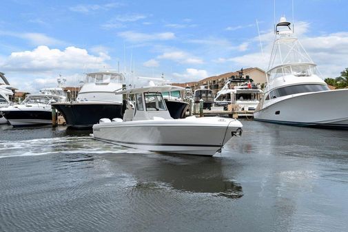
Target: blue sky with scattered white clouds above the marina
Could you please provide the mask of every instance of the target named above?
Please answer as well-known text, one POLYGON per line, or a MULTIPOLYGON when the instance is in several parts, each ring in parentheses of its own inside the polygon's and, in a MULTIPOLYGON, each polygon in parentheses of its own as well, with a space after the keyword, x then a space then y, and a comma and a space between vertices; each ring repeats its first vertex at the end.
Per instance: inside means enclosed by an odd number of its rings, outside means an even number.
POLYGON ((344 0, 276 0, 275 11, 274 0, 7 0, 1 9, 0 72, 21 91, 54 87, 59 75, 77 85, 102 69, 180 83, 265 70, 274 12, 294 22, 323 78, 348 67, 344 0))

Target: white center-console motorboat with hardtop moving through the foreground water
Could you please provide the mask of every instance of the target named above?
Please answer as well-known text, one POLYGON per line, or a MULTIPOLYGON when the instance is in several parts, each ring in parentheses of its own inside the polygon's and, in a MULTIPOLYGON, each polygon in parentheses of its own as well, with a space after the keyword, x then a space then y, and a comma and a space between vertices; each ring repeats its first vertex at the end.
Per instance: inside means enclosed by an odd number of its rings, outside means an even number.
POLYGON ((134 109, 127 103, 123 119, 102 118, 93 125, 93 137, 148 151, 213 156, 233 136, 242 134, 242 123, 232 118, 173 119, 161 92, 181 89, 156 85, 118 92, 135 96, 134 109))

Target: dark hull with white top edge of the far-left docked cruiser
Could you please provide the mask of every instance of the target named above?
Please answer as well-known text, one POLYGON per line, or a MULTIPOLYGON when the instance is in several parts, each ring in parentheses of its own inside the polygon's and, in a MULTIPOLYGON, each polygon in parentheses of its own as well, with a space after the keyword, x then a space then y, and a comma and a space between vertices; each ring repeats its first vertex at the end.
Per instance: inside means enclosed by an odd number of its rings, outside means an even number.
POLYGON ((52 124, 52 112, 48 109, 3 109, 1 110, 4 118, 13 127, 28 127, 37 125, 52 124))

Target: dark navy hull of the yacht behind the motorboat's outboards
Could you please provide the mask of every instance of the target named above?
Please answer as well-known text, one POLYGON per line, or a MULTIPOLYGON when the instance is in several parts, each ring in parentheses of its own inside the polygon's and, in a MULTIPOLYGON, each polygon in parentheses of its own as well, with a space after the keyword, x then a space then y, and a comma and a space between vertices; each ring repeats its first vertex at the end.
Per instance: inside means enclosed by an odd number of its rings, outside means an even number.
POLYGON ((121 103, 65 102, 52 107, 63 115, 68 126, 78 129, 90 129, 101 118, 122 118, 121 103))

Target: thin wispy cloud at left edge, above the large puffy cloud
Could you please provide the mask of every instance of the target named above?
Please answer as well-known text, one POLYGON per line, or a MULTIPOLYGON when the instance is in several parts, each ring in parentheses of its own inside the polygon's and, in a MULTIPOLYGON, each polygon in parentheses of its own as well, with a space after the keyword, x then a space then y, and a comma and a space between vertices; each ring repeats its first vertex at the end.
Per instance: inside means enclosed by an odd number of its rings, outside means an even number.
POLYGON ((0 35, 4 36, 13 36, 20 39, 28 40, 32 45, 62 45, 65 42, 60 41, 59 39, 54 39, 50 36, 41 33, 17 33, 10 31, 0 31, 0 35))

